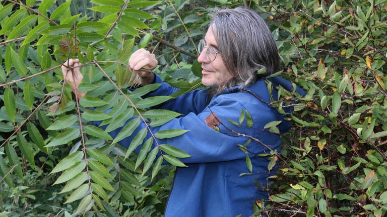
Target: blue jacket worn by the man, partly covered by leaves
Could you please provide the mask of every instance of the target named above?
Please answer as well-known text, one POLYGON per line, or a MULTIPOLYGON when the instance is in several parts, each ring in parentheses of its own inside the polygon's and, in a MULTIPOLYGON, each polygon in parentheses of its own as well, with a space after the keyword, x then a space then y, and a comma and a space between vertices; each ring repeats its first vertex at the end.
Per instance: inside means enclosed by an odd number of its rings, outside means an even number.
MULTIPOLYGON (((170 95, 177 90, 158 76, 155 82, 162 85, 147 96, 170 95)), ((281 84, 290 91, 292 89, 287 80, 275 77, 272 82, 273 86, 281 84)), ((276 95, 275 89, 273 93, 276 95)), ((157 107, 181 113, 183 116, 160 127, 151 127, 153 133, 167 129, 189 130, 175 138, 159 139, 158 143, 175 146, 191 155, 180 159, 188 167, 176 169, 165 216, 250 216, 253 212, 252 204, 257 199, 268 198, 268 192, 265 191, 269 182, 267 178, 276 173, 276 168, 269 172, 269 160, 252 153, 270 151, 264 145, 251 141, 247 149, 250 152, 252 175, 239 176, 249 171, 246 167, 246 153, 237 145, 243 145, 249 139, 235 136, 230 131, 250 135, 280 152, 280 137, 264 131, 264 126, 272 121, 282 121, 278 127, 281 133, 285 133, 290 123, 284 121, 284 116, 270 107, 268 102, 270 97, 267 85, 260 79, 244 89, 237 86, 227 89, 222 94, 215 95, 208 105, 206 90, 194 90, 157 107), (228 121, 238 123, 241 110, 251 114, 254 123, 251 128, 246 127, 245 121, 242 127, 228 121), (212 124, 216 119, 211 117, 212 114, 224 125, 218 123, 220 132, 213 129, 212 124)), ((127 148, 137 132, 144 127, 142 124, 131 137, 125 138, 119 144, 127 148)), ((109 134, 114 138, 121 129, 109 134)), ((150 137, 150 133, 147 137, 150 137)), ((153 147, 155 146, 153 144, 153 147)), ((135 152, 138 153, 140 149, 141 147, 135 152)))

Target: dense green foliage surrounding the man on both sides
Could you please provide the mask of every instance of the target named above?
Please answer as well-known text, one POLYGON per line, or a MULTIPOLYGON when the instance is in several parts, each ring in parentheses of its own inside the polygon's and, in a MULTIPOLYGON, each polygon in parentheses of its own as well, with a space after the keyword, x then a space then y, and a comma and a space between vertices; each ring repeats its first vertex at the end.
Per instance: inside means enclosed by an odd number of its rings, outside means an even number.
MULTIPOLYGON (((125 135, 141 121, 158 126, 178 117, 148 108, 200 87, 194 44, 206 32, 208 12, 243 5, 268 22, 283 62, 278 74, 307 90, 300 96, 280 87, 272 101, 280 113, 295 106, 293 127, 282 135, 281 153, 267 153, 269 169, 278 165, 279 172, 268 180, 269 201, 254 204, 256 215, 387 212, 386 0, 1 3, 0 216, 162 215, 173 167, 161 162, 184 166, 178 158, 187 154, 163 145, 150 150, 146 129, 129 150, 117 145, 122 136, 106 132, 133 116, 139 118, 125 135), (125 64, 138 48, 153 51, 156 73, 181 91, 142 99, 158 86, 127 90, 135 74, 125 64), (80 101, 62 81, 60 64, 68 58, 84 64, 80 88, 88 93, 80 101), (108 130, 88 124, 95 120, 108 130), (163 156, 156 159, 157 152, 163 156)), ((278 124, 265 128, 278 133, 278 124)), ((247 158, 245 171, 259 172, 247 158)))

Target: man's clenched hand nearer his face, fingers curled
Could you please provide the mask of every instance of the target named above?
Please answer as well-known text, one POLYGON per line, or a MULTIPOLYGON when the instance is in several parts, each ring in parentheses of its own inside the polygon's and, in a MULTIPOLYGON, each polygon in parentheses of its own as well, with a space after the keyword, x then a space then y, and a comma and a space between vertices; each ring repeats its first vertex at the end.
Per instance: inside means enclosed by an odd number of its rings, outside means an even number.
POLYGON ((157 64, 156 56, 144 48, 137 50, 129 58, 129 66, 140 75, 142 85, 149 84, 153 81, 154 75, 152 70, 156 68, 157 64), (141 71, 141 68, 148 69, 149 71, 141 71))

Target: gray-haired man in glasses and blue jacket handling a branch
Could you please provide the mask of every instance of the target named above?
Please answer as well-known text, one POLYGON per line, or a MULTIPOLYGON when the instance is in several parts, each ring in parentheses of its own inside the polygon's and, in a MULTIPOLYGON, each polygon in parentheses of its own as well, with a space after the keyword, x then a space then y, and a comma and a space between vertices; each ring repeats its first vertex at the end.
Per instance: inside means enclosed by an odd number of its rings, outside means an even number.
MULTIPOLYGON (((256 154, 269 153, 269 149, 280 151, 279 135, 263 130, 264 126, 272 121, 282 121, 277 126, 280 132, 289 128, 284 117, 269 105, 264 75, 256 73, 263 67, 266 68, 265 75, 279 71, 278 50, 262 18, 250 9, 237 8, 215 10, 199 52, 202 83, 209 88, 191 91, 158 106, 181 113, 183 117, 160 127, 151 127, 153 133, 167 129, 189 130, 175 138, 158 140, 159 144, 172 145, 192 155, 181 159, 188 167, 176 169, 165 216, 249 216, 257 199, 268 198, 268 193, 260 187, 267 188, 267 178, 275 173, 271 171, 270 174, 269 161, 256 154), (251 115, 251 127, 246 121, 241 126, 228 121, 238 122, 241 110, 251 115), (249 141, 246 135, 256 138, 246 146, 252 174, 239 177, 240 173, 248 172, 246 153, 237 146, 249 141), (261 186, 257 187, 256 183, 261 186)), ((78 62, 71 60, 72 64, 78 62)), ((149 51, 140 49, 133 53, 129 65, 134 70, 152 70, 157 66, 157 60, 149 51)), ((64 73, 66 68, 63 67, 64 73)), ((75 90, 82 79, 79 70, 76 74, 76 81, 71 76, 66 78, 75 90)), ((141 72, 140 75, 143 85, 162 84, 147 97, 170 95, 177 90, 154 73, 141 72)), ((272 82, 274 86, 280 84, 292 91, 291 83, 286 80, 274 78, 272 82)), ((274 89, 274 98, 276 94, 274 89)), ((144 127, 143 124, 137 132, 144 127)), ((110 135, 115 137, 120 130, 110 135)), ((128 147, 134 135, 136 132, 120 144, 128 147)))

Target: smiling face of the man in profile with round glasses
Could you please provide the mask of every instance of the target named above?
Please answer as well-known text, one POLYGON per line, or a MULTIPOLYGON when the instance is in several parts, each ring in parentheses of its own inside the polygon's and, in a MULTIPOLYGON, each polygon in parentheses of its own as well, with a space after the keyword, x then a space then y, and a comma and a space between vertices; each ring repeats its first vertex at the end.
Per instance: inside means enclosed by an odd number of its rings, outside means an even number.
POLYGON ((202 83, 205 86, 216 87, 226 83, 233 76, 224 65, 222 56, 220 56, 220 54, 218 54, 215 60, 212 62, 208 61, 206 58, 206 52, 210 46, 213 46, 217 51, 219 51, 218 44, 216 43, 211 26, 208 28, 204 40, 206 41, 206 47, 198 57, 198 62, 202 63, 203 69, 202 83))

